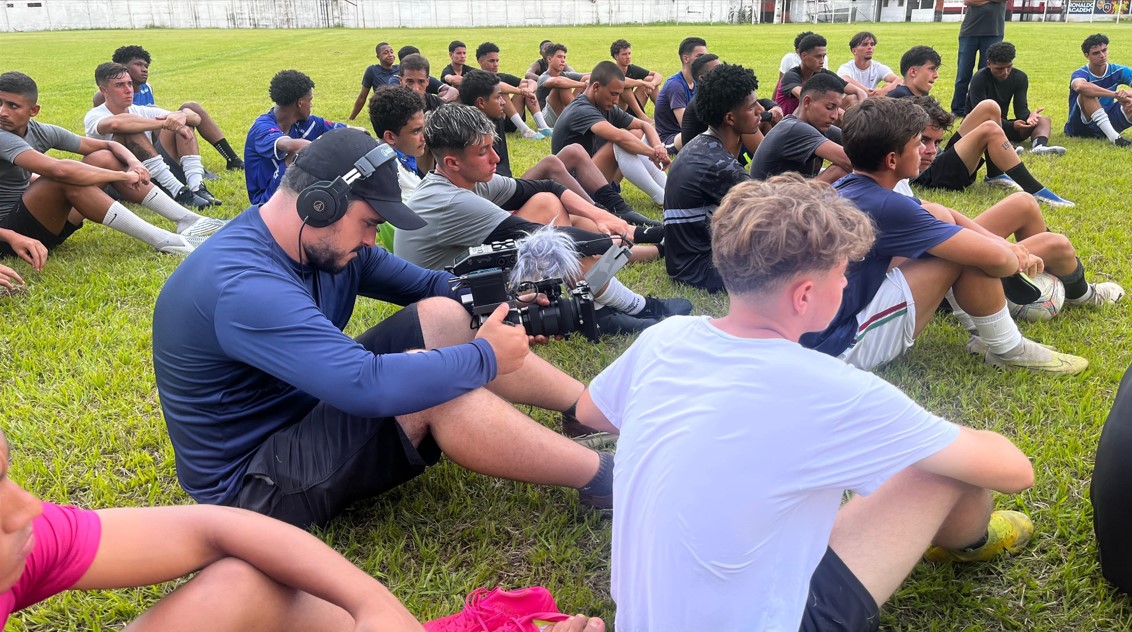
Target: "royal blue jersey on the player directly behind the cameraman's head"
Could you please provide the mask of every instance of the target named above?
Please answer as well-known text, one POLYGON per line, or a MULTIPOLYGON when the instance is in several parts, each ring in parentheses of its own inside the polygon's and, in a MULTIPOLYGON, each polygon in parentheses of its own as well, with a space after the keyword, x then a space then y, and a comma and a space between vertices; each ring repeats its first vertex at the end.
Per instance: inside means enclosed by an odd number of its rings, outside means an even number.
POLYGON ((291 126, 286 134, 280 129, 275 119, 275 110, 256 119, 248 130, 248 139, 243 144, 243 178, 248 185, 248 199, 252 204, 263 204, 278 188, 283 173, 286 172, 286 152, 280 152, 280 138, 302 138, 314 140, 323 134, 345 123, 328 121, 321 117, 311 116, 305 121, 291 126))

